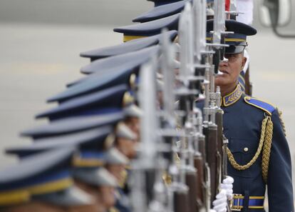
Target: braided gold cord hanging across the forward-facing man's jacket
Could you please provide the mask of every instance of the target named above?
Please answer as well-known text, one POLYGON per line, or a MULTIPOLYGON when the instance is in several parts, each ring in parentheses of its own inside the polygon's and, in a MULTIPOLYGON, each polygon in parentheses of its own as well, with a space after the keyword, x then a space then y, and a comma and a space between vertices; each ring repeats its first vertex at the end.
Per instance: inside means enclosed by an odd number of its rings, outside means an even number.
POLYGON ((249 161, 246 165, 239 165, 239 163, 237 163, 237 161, 234 159, 232 152, 229 150, 229 148, 227 148, 227 156, 229 158, 229 163, 231 163, 232 166, 237 170, 242 171, 252 166, 255 163, 255 161, 257 161, 257 158, 262 152, 262 177, 264 178, 264 181, 266 183, 267 173, 269 170, 269 156, 271 151, 272 130, 273 124, 271 121, 271 117, 266 116, 266 118, 264 118, 264 120, 262 121, 262 133, 260 136, 257 152, 255 153, 251 161, 249 161))

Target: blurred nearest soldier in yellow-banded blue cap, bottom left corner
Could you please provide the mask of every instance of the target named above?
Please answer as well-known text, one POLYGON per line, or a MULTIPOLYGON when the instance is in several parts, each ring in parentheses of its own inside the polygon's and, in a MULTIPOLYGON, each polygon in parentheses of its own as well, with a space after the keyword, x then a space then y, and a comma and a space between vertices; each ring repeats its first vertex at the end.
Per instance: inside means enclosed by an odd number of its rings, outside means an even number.
POLYGON ((95 211, 71 176, 73 148, 38 153, 0 171, 0 211, 95 211))

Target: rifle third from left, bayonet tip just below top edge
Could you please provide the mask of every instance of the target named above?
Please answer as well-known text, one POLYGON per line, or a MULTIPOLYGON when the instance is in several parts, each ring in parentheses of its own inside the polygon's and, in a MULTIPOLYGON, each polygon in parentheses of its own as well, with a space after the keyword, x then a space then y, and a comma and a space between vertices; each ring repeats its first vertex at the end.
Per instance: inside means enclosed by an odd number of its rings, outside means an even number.
MULTIPOLYGON (((197 14, 197 13, 195 13, 197 14)), ((203 168, 202 156, 198 151, 199 143, 197 130, 195 128, 195 98, 200 94, 200 81, 204 78, 202 74, 196 74, 195 68, 195 48, 201 46, 200 42, 195 42, 193 33, 200 31, 194 31, 193 27, 193 11, 190 3, 187 3, 185 10, 180 16, 180 76, 182 86, 178 90, 178 96, 180 98, 180 110, 185 111, 185 118, 182 118, 182 127, 185 129, 186 137, 182 140, 181 146, 181 158, 183 162, 182 166, 185 168, 185 180, 189 187, 190 192, 190 211, 200 211, 203 206, 203 168), (197 46, 197 47, 196 47, 197 46), (197 172, 198 171, 198 172, 197 172)), ((200 68, 200 57, 197 57, 199 61, 198 68, 200 68)), ((202 114, 199 116, 202 116, 202 114)))

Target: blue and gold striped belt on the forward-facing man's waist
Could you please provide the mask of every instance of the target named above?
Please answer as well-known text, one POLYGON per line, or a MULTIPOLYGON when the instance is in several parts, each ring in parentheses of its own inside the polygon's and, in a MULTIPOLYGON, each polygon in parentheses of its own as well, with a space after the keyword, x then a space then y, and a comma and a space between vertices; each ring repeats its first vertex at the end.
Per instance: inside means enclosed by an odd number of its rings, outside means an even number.
MULTIPOLYGON (((242 194, 234 193, 232 198, 232 211, 242 211, 244 207, 244 196, 242 194)), ((264 196, 249 196, 249 209, 263 209, 264 196)))

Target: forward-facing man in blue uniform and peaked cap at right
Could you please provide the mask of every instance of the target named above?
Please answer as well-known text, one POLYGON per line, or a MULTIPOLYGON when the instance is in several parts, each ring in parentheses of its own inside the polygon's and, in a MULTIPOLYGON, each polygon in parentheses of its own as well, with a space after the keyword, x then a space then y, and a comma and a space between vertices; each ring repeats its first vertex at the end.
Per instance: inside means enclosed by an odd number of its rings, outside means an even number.
MULTIPOLYGON (((232 211, 264 211, 268 191, 269 211, 294 211, 291 157, 280 112, 261 99, 247 96, 239 84, 246 58, 246 37, 257 31, 226 20, 224 59, 215 86, 222 94, 223 133, 229 139, 228 175, 234 178, 232 211)), ((207 21, 212 31, 213 21, 207 21)), ((210 40, 210 38, 207 38, 210 40)), ((197 105, 202 108, 202 101, 197 105)))

